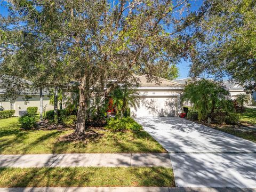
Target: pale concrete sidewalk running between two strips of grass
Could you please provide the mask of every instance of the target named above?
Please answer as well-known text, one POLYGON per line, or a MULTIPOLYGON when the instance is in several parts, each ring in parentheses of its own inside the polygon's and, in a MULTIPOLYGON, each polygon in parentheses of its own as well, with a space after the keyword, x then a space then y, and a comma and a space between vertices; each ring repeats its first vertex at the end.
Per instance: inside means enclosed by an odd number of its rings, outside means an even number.
POLYGON ((0 167, 172 167, 169 154, 0 155, 0 167))

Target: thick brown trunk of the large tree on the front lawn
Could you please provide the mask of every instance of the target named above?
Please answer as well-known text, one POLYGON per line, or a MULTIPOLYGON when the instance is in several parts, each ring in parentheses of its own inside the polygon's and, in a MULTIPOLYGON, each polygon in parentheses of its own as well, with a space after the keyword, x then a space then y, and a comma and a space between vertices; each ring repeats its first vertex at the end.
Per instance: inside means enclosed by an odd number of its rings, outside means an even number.
POLYGON ((75 134, 85 134, 85 115, 86 115, 86 98, 84 93, 84 87, 79 90, 79 106, 76 119, 75 134))

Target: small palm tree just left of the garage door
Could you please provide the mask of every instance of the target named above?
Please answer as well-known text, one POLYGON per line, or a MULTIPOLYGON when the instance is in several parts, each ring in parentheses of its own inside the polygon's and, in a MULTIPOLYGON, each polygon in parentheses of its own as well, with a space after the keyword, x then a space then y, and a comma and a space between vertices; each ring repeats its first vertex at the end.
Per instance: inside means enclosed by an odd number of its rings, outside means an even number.
POLYGON ((126 84, 117 86, 111 93, 117 117, 123 117, 123 114, 130 107, 137 109, 139 106, 139 93, 134 87, 126 84))

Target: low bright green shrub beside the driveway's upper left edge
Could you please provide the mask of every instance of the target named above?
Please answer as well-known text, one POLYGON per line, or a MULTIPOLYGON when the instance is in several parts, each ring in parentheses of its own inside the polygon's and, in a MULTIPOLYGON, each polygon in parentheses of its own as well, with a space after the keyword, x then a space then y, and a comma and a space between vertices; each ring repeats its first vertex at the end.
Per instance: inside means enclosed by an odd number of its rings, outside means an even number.
POLYGON ((131 117, 124 117, 121 119, 110 118, 107 122, 107 129, 112 131, 139 131, 142 129, 142 126, 134 121, 131 117))

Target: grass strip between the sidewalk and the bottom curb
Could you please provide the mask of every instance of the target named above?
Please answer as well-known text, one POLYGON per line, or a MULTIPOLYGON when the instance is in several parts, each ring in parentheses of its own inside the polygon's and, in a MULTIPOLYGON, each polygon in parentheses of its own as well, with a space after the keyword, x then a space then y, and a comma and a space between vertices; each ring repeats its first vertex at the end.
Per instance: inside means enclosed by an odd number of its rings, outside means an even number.
POLYGON ((0 175, 0 187, 175 187, 164 167, 5 167, 0 175))

